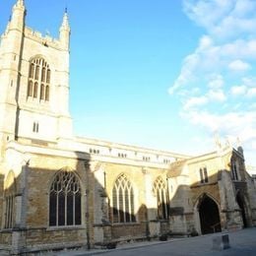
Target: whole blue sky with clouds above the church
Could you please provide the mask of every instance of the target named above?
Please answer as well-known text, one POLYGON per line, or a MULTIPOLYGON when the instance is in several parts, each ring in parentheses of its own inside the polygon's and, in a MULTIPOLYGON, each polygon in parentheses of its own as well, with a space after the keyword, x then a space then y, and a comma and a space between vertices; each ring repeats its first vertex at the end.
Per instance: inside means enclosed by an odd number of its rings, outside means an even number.
POLYGON ((27 26, 57 37, 66 5, 77 135, 196 155, 219 134, 256 165, 256 1, 27 0, 27 26))

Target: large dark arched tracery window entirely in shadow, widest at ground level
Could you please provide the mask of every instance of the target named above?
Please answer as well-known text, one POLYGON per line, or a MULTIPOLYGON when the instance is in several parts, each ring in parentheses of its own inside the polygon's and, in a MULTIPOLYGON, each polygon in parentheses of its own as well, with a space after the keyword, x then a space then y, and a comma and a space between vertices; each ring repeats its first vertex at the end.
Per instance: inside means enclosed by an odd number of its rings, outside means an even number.
POLYGON ((81 224, 81 186, 71 171, 59 171, 52 181, 49 195, 49 225, 81 224))

